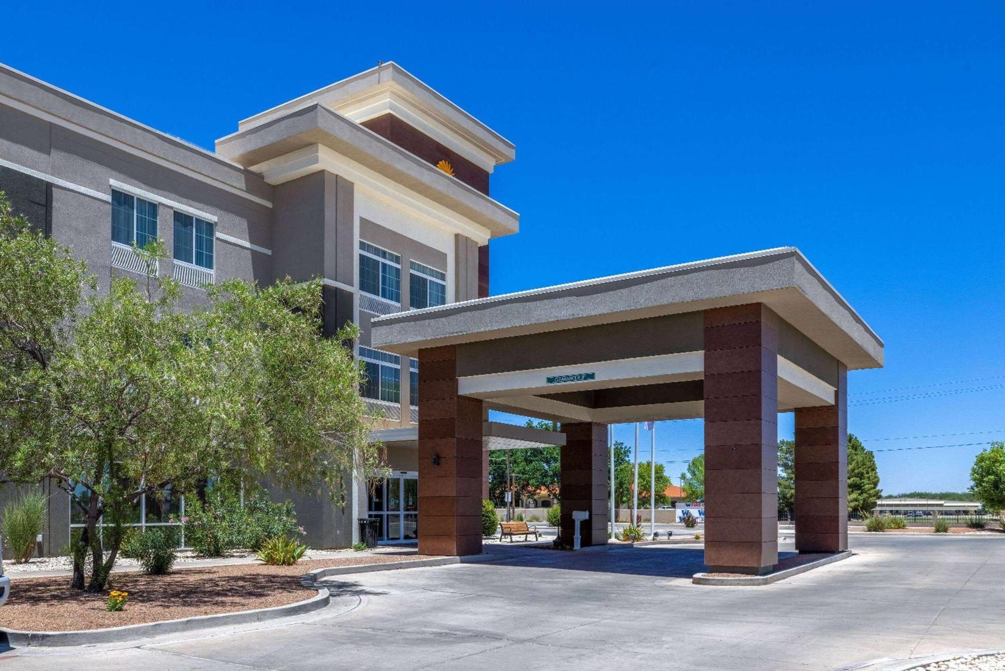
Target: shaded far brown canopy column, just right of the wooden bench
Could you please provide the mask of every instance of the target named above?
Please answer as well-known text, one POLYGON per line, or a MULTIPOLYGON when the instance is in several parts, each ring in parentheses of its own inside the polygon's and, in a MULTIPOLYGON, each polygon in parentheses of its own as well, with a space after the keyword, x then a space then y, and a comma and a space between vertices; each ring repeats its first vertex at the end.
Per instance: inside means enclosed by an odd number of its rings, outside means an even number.
POLYGON ((590 519, 580 522, 580 543, 607 544, 607 425, 593 422, 562 424, 566 444, 562 447, 562 540, 572 545, 576 534, 573 510, 589 510, 590 519))

